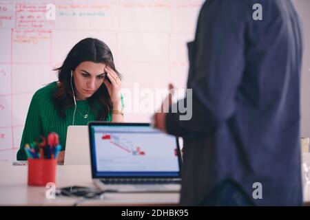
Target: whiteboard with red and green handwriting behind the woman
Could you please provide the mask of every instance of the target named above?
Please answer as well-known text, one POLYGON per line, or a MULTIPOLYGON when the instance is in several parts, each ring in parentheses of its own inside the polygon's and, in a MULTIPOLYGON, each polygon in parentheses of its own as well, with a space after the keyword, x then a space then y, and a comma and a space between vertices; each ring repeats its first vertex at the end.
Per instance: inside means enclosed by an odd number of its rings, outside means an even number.
MULTIPOLYGON (((14 160, 30 100, 56 80, 69 50, 94 37, 112 50, 123 88, 184 88, 186 43, 194 39, 203 0, 0 1, 0 160, 14 160), (46 5, 55 6, 49 20, 46 5), (136 83, 136 84, 135 84, 136 83)), ((126 100, 125 102, 130 102, 126 100)), ((127 113, 149 122, 151 113, 127 113)))

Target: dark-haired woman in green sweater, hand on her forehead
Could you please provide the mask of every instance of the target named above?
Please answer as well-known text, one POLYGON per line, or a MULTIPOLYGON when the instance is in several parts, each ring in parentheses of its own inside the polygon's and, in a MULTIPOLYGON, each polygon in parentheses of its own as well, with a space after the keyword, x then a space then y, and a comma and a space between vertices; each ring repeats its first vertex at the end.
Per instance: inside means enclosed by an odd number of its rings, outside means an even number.
POLYGON ((24 146, 40 135, 59 134, 63 162, 69 125, 89 121, 123 122, 121 74, 116 71, 112 52, 98 39, 83 39, 70 50, 58 71, 57 82, 36 91, 30 102, 18 160, 27 159, 24 146))

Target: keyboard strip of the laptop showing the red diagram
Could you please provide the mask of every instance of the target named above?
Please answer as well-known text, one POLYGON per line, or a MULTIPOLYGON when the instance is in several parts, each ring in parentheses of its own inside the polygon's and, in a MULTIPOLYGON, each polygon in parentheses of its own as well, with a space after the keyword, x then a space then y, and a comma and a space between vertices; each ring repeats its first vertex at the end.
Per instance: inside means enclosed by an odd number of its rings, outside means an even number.
POLYGON ((101 179, 103 184, 180 184, 180 179, 157 179, 157 178, 122 178, 122 179, 101 179))

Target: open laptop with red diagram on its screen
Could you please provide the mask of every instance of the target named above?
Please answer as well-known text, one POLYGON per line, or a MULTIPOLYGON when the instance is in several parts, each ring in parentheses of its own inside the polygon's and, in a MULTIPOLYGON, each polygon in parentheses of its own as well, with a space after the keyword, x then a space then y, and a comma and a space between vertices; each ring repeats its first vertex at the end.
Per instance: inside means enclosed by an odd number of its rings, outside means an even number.
POLYGON ((92 179, 101 190, 178 192, 178 139, 147 123, 90 122, 92 179))

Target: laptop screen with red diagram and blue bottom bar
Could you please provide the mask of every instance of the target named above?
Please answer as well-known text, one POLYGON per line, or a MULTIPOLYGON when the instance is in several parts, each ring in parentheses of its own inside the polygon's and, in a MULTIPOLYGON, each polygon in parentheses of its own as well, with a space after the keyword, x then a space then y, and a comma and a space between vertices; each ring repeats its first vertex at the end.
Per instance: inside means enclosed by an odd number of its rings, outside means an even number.
POLYGON ((176 137, 149 124, 90 124, 93 177, 180 177, 176 137))

